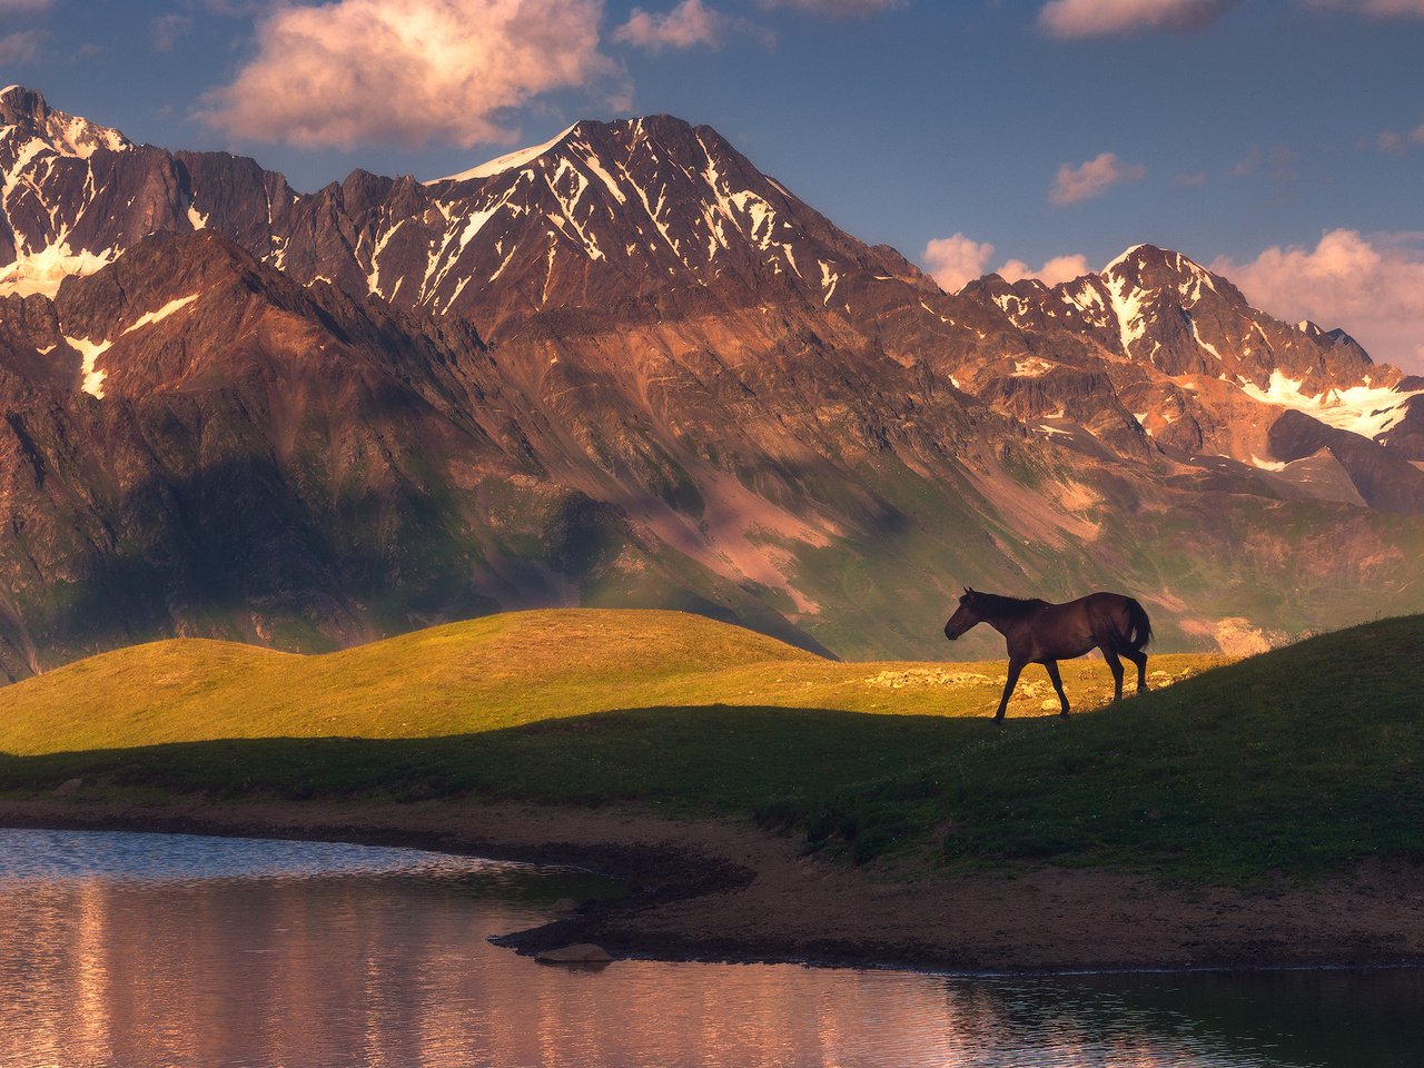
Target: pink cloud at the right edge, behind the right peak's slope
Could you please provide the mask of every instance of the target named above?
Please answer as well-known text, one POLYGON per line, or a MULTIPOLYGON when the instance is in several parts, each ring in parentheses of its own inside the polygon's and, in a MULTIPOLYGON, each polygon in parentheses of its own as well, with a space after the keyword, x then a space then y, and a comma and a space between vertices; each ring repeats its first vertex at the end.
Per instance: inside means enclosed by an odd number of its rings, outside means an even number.
POLYGON ((1220 256, 1212 271, 1274 316, 1340 328, 1374 359, 1424 373, 1424 234, 1333 229, 1313 249, 1274 245, 1243 263, 1220 256))

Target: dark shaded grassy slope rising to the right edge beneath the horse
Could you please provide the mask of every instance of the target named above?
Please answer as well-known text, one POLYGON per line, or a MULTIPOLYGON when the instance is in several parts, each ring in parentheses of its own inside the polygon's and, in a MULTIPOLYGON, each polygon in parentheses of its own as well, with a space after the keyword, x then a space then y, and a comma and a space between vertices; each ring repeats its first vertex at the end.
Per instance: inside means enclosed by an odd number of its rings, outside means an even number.
POLYGON ((832 797, 763 806, 867 856, 1104 863, 1200 880, 1424 859, 1424 617, 1367 624, 1075 721, 980 733, 832 797))

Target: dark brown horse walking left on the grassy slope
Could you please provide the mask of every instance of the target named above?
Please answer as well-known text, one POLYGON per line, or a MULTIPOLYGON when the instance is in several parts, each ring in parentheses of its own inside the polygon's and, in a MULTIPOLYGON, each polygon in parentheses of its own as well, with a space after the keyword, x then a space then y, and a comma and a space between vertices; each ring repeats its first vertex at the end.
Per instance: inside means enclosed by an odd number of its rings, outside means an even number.
POLYGON ((1114 701, 1122 701, 1122 661, 1138 665, 1138 693, 1148 689, 1148 656, 1142 649, 1152 639, 1152 621, 1146 609, 1124 594, 1088 594, 1067 604, 1048 604, 1038 598, 1022 600, 981 594, 964 587, 960 607, 944 624, 944 637, 956 641, 970 628, 987 622, 1004 635, 1008 645, 1008 678, 994 722, 1004 722, 1008 698, 1027 664, 1042 664, 1058 691, 1061 716, 1068 715, 1068 695, 1058 675, 1058 661, 1102 649, 1112 669, 1114 701))

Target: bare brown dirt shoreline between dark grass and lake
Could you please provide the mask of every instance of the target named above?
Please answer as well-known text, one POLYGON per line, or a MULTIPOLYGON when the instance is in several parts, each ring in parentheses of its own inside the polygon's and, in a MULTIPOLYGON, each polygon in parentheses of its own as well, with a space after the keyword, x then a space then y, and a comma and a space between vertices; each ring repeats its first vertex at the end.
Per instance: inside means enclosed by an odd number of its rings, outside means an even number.
POLYGON ((0 799, 0 824, 410 846, 582 867, 628 897, 496 938, 521 954, 796 963, 958 977, 1424 967, 1424 867, 1262 890, 1173 887, 1095 869, 934 874, 802 856, 732 819, 474 800, 164 803, 0 799))

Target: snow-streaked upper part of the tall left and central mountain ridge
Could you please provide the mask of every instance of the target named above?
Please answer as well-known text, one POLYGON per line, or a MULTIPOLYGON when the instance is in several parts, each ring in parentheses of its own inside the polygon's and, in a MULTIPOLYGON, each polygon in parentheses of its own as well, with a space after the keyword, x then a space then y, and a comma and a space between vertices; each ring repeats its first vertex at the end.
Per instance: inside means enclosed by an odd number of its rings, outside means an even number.
POLYGON ((446 179, 355 171, 310 195, 249 159, 135 148, 17 87, 0 94, 0 118, 10 292, 53 295, 60 271, 91 273, 147 234, 209 226, 300 282, 460 315, 491 336, 550 308, 679 288, 829 303, 852 272, 917 276, 897 253, 837 231, 716 131, 669 115, 578 122, 446 179))

